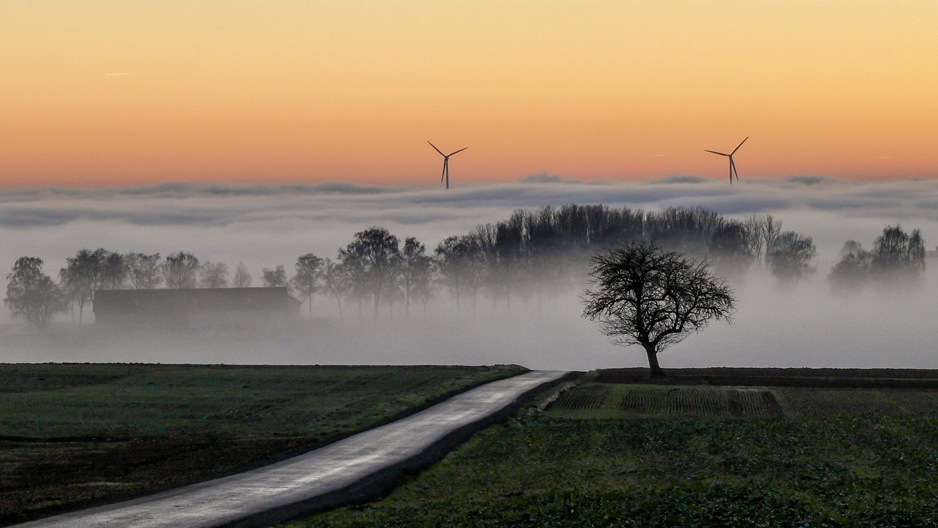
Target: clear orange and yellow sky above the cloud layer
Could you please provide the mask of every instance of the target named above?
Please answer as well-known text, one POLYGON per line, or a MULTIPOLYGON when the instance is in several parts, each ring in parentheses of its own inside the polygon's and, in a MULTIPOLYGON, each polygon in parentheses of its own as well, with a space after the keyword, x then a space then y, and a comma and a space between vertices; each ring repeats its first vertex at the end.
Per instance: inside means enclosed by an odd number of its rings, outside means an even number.
POLYGON ((0 4, 4 185, 938 176, 938 3, 0 4), (126 75, 108 75, 127 73, 126 75), (436 178, 436 179, 435 179, 436 178), (435 180, 434 180, 435 179, 435 180))

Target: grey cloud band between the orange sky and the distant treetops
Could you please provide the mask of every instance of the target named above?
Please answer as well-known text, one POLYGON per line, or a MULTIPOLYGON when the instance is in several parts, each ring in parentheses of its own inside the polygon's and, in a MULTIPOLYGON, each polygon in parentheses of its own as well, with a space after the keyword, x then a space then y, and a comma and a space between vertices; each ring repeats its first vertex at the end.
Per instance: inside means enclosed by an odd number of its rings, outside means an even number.
POLYGON ((442 189, 179 183, 126 188, 22 188, 0 192, 0 265, 40 256, 53 266, 82 247, 191 251, 205 260, 289 265, 314 252, 334 256, 356 231, 384 225, 435 245, 448 235, 504 219, 512 210, 602 203, 656 210, 703 206, 742 217, 779 217, 814 237, 822 258, 847 239, 866 241, 884 225, 938 237, 938 181, 855 182, 817 177, 749 179, 730 185, 693 176, 583 183, 546 173, 507 184, 442 189))

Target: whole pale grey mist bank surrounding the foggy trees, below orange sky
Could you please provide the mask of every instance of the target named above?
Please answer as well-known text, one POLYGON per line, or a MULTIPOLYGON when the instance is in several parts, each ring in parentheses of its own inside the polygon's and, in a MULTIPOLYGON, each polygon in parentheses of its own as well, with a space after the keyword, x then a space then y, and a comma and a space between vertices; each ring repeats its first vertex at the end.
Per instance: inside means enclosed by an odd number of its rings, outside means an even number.
MULTIPOLYGON (((885 225, 920 228, 927 249, 938 243, 938 182, 906 179, 854 182, 814 177, 722 180, 672 177, 648 182, 584 183, 535 175, 508 184, 405 189, 347 183, 234 185, 170 183, 150 187, 24 188, 0 192, 0 264, 38 256, 55 275, 82 248, 118 252, 187 251, 201 261, 244 261, 259 285, 262 267, 292 270, 296 256, 336 257, 352 236, 384 226, 401 240, 414 236, 429 251, 450 235, 504 220, 512 210, 545 205, 597 204, 660 210, 703 206, 729 218, 772 214, 783 229, 812 237, 817 272, 779 286, 753 269, 734 285, 734 324, 711 324, 703 334, 660 354, 662 367, 835 366, 938 368, 938 287, 935 262, 923 287, 882 294, 874 288, 834 296, 825 282, 844 241, 870 247, 885 225)), ((580 289, 519 299, 508 311, 482 296, 475 318, 468 303, 457 314, 441 301, 383 308, 374 318, 346 303, 317 297, 313 318, 285 333, 129 334, 120 340, 67 333, 0 336, 0 362, 119 361, 227 364, 495 364, 591 369, 646 365, 642 349, 609 344, 583 319, 580 289)), ((305 315, 305 308, 304 308, 305 315)), ((6 317, 6 314, 5 314, 6 317)), ((68 323, 63 318, 59 327, 68 323)))

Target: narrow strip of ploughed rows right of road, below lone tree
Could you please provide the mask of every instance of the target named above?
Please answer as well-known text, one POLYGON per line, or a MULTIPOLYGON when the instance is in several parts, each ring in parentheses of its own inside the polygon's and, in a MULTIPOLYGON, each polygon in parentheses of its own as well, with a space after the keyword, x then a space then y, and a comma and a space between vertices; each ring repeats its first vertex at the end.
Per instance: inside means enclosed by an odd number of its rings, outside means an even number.
POLYGON ((569 418, 935 415, 938 414, 938 393, 886 389, 584 383, 562 393, 552 403, 549 414, 569 418))

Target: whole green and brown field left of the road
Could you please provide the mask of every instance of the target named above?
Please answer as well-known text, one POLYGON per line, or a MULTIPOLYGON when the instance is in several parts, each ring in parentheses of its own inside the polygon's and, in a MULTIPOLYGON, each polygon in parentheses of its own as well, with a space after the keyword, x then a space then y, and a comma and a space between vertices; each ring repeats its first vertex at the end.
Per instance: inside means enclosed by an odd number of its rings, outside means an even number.
POLYGON ((0 365, 0 524, 331 442, 516 365, 0 365))

